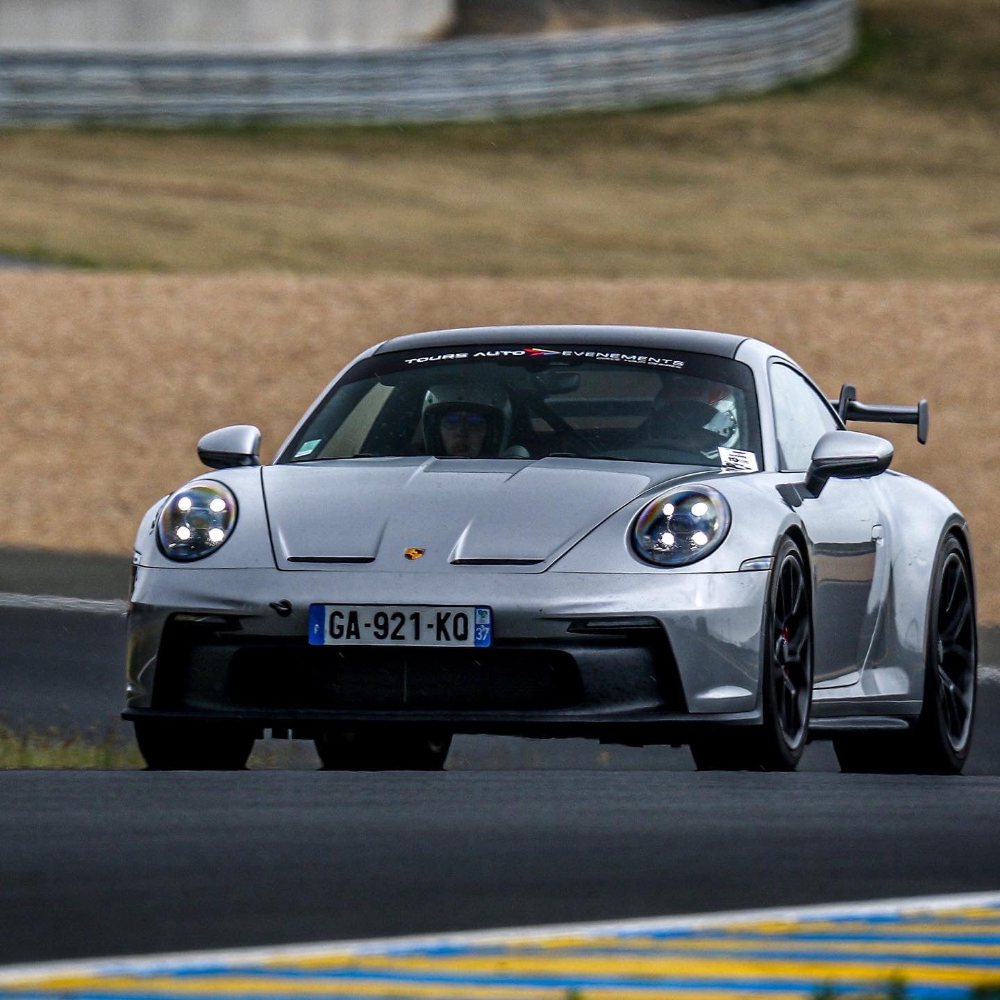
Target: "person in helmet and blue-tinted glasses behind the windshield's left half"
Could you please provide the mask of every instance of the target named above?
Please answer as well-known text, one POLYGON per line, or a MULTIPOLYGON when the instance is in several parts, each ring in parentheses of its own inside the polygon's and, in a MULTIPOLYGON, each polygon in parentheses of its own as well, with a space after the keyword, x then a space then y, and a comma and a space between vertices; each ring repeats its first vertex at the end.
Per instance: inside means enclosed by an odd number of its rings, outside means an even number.
POLYGON ((495 385, 432 385, 421 413, 424 445, 446 458, 491 458, 505 454, 512 409, 495 385))

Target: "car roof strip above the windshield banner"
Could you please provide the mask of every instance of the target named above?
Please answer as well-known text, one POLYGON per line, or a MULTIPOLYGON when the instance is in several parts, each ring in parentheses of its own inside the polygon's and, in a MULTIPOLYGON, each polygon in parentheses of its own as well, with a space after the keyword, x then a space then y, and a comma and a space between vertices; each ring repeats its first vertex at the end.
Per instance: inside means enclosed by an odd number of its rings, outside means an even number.
POLYGON ((659 326, 474 326, 455 330, 431 330, 393 337, 379 344, 376 354, 421 348, 472 344, 587 344, 608 347, 639 347, 652 350, 690 351, 695 354, 735 356, 748 338, 710 330, 684 330, 659 326))

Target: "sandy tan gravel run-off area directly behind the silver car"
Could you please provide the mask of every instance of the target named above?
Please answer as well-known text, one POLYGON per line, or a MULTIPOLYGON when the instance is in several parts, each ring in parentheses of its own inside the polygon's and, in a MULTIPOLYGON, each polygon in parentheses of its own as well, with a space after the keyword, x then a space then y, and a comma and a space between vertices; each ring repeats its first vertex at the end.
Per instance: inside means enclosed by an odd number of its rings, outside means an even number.
POLYGON ((912 428, 883 431, 896 468, 965 511, 980 619, 1000 622, 1000 286, 973 283, 3 273, 0 545, 128 555, 146 508, 199 473, 201 434, 255 423, 273 455, 368 344, 421 329, 566 322, 759 336, 830 395, 853 381, 867 401, 926 396, 926 448, 912 428))

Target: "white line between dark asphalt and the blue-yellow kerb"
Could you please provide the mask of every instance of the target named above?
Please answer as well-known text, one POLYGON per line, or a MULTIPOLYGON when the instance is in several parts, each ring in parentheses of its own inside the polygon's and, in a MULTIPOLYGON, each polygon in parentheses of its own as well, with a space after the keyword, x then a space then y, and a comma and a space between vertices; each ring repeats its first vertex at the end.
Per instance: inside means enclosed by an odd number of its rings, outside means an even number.
POLYGON ((813 904, 771 907, 759 910, 731 910, 678 917, 639 917, 594 923, 503 927, 482 931, 456 931, 409 937, 370 938, 360 941, 317 941, 309 944, 274 945, 257 948, 229 948, 215 951, 172 952, 163 955, 119 956, 89 961, 57 961, 35 965, 0 967, 0 986, 24 980, 55 976, 92 977, 170 973, 199 965, 226 965, 234 970, 289 959, 392 954, 415 948, 444 948, 501 944, 563 937, 599 937, 643 931, 702 930, 728 924, 757 923, 764 920, 802 920, 896 914, 915 910, 938 912, 976 906, 1000 906, 1000 892, 977 892, 940 896, 912 896, 856 903, 813 904))

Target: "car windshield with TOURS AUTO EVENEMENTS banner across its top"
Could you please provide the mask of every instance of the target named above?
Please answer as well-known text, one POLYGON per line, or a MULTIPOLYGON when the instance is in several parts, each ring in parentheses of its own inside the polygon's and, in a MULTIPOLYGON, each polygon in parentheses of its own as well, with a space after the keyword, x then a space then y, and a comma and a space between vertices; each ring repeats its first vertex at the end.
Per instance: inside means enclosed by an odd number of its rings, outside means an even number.
POLYGON ((283 462, 427 455, 760 467, 750 370, 714 355, 518 345, 374 355, 283 462))

